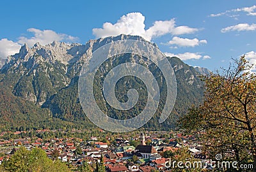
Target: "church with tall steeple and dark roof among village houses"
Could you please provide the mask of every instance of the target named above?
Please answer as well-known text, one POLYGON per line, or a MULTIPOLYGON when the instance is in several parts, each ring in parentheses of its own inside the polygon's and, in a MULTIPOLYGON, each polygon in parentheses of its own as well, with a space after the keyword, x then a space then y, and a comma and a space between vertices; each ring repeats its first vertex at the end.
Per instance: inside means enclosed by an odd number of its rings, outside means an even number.
POLYGON ((135 150, 137 150, 143 158, 150 158, 152 155, 157 154, 156 149, 152 145, 146 145, 145 135, 140 134, 140 145, 138 145, 135 150))

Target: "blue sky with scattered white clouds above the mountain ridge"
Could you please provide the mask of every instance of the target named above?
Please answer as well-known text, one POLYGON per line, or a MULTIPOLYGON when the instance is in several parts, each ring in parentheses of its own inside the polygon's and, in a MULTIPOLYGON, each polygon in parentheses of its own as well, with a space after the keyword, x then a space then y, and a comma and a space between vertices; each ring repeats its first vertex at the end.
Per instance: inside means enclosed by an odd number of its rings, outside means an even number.
POLYGON ((191 66, 256 63, 256 1, 1 1, 0 57, 20 45, 136 34, 191 66), (106 24, 106 22, 108 22, 106 24))

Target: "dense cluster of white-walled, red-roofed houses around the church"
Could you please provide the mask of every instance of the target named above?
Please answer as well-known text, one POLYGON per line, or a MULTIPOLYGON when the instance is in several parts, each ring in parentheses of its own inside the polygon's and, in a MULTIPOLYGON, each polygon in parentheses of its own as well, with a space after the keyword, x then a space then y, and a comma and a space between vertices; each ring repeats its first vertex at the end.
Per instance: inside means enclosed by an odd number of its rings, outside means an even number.
MULTIPOLYGON (((147 136, 148 137, 148 136, 147 136)), ((49 158, 52 157, 52 152, 58 150, 58 158, 78 167, 84 162, 93 166, 100 161, 103 156, 106 171, 168 171, 166 162, 170 159, 163 157, 163 152, 175 152, 186 145, 186 139, 182 143, 170 140, 170 143, 164 143, 163 140, 151 138, 150 145, 146 145, 146 136, 140 135, 140 145, 133 147, 129 145, 129 140, 117 138, 115 145, 98 141, 97 137, 92 137, 90 141, 84 143, 79 138, 54 138, 49 142, 44 142, 42 139, 37 139, 31 143, 28 139, 16 139, 13 141, 1 141, 0 151, 6 155, 12 155, 13 149, 24 146, 28 150, 33 147, 40 147, 45 150, 49 158), (3 147, 1 149, 1 147, 3 147), (8 148, 9 146, 9 148, 8 148), (79 151, 77 150, 79 148, 79 151)), ((201 155, 200 145, 189 143, 189 152, 197 159, 202 161, 206 159, 201 155)), ((0 157, 0 163, 4 157, 0 157)))

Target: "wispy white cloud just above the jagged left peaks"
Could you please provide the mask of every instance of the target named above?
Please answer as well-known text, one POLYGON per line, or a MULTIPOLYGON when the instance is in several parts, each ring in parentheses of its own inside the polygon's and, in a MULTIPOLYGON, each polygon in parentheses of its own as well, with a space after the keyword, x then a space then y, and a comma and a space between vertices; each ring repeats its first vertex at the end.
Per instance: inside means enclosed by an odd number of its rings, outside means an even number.
POLYGON ((52 41, 76 41, 77 38, 74 36, 69 36, 67 34, 56 33, 52 30, 40 30, 35 28, 29 28, 28 32, 32 32, 33 36, 31 38, 26 38, 25 36, 20 36, 18 43, 27 43, 29 47, 32 47, 35 43, 39 42, 41 45, 46 45, 52 41))

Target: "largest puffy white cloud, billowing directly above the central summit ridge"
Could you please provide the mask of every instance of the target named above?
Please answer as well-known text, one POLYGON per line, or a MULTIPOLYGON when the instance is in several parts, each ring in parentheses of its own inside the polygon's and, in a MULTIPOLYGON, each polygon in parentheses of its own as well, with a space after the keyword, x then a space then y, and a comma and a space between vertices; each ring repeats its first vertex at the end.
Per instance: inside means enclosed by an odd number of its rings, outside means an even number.
POLYGON ((115 24, 106 22, 102 25, 102 28, 94 28, 92 31, 97 38, 132 34, 142 36, 148 41, 164 34, 180 35, 198 31, 198 29, 186 25, 176 27, 174 18, 171 20, 155 21, 151 27, 145 30, 144 21, 145 17, 141 13, 128 13, 123 15, 115 24))

